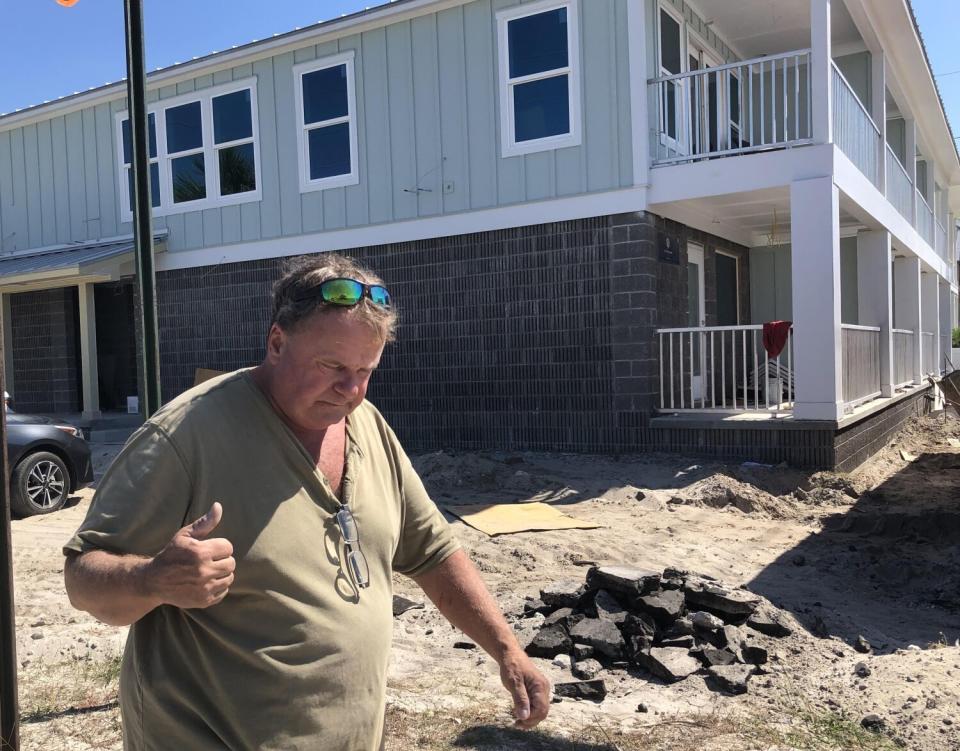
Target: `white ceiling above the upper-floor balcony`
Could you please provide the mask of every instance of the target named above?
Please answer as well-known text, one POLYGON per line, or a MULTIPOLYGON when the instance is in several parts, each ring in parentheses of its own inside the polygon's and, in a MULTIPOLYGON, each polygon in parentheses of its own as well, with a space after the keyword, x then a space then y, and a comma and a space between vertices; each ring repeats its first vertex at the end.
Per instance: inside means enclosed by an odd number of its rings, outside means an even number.
MULTIPOLYGON (((696 0, 713 30, 745 58, 810 46, 810 3, 798 0, 696 0)), ((833 44, 860 41, 842 2, 831 3, 833 44)))

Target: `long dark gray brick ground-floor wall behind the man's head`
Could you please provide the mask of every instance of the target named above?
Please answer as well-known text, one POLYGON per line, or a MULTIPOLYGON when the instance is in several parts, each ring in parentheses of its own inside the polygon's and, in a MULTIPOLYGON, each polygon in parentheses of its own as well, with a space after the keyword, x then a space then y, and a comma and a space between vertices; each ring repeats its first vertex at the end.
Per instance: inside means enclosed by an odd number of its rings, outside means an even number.
MULTIPOLYGON (((658 227, 703 242, 708 259, 741 253, 746 268, 745 249, 643 212, 351 250, 401 315, 371 399, 410 449, 650 445, 655 330, 687 320, 686 252, 658 260, 658 227)), ((165 399, 198 367, 260 361, 281 263, 158 275, 165 399)))

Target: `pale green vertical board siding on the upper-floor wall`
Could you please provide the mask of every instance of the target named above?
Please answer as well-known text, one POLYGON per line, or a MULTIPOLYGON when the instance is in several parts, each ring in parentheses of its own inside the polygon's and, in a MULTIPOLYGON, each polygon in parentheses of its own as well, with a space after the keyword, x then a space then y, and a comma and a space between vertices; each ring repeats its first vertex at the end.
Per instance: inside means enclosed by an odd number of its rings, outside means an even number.
MULTIPOLYGON (((579 4, 582 144, 501 158, 496 13, 530 1, 473 0, 151 89, 153 103, 246 78, 257 86, 261 200, 155 218, 168 230, 168 250, 631 185, 628 0, 579 4), (359 183, 301 193, 293 66, 349 50, 359 183)), ((132 232, 122 221, 115 132, 115 115, 125 110, 121 95, 0 132, 0 251, 132 232)))

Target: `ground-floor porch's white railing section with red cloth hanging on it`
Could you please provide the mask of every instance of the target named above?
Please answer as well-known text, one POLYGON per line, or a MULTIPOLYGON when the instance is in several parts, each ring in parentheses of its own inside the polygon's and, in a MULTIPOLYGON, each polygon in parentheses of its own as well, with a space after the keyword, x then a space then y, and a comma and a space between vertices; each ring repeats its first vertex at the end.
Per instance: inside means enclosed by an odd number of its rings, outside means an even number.
POLYGON ((773 359, 762 334, 760 325, 659 329, 660 409, 792 409, 793 331, 773 359))

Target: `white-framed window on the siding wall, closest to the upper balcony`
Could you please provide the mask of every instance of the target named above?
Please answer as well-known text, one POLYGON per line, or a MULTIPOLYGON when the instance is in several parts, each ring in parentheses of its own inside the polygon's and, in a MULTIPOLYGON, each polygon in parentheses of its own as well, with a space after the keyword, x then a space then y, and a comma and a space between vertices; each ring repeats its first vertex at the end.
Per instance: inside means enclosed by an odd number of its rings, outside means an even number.
POLYGON ((577 2, 497 14, 503 156, 580 143, 577 2))

